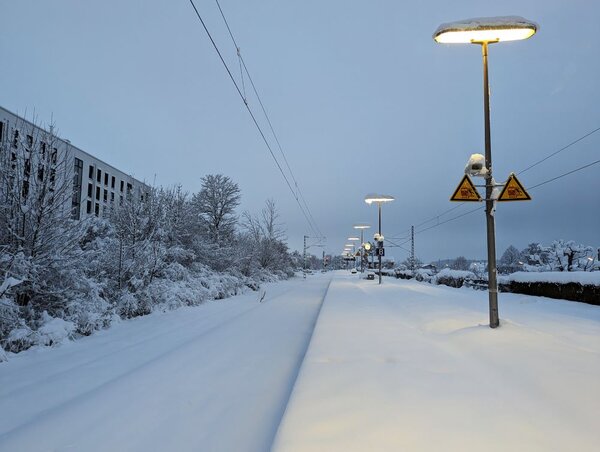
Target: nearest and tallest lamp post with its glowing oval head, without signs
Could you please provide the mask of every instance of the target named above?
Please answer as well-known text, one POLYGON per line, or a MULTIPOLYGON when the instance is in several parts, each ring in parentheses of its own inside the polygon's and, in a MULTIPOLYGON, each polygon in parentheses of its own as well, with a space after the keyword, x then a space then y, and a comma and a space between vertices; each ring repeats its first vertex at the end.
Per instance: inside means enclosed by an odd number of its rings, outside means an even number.
POLYGON ((488 290, 490 327, 500 325, 498 316, 498 281, 496 279, 496 232, 492 199, 492 144, 490 137, 490 86, 488 79, 488 46, 500 41, 527 39, 535 34, 534 22, 517 16, 466 19, 442 24, 433 39, 442 44, 478 44, 483 58, 483 117, 485 124, 485 216, 487 227, 488 290))

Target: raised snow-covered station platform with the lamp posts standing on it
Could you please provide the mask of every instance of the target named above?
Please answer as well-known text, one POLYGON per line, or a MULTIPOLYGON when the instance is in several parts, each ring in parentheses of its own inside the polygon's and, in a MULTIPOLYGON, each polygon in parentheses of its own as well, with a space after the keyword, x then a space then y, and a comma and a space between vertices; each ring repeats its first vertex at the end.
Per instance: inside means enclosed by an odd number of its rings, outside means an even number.
POLYGON ((600 308, 336 278, 273 450, 596 451, 600 308))

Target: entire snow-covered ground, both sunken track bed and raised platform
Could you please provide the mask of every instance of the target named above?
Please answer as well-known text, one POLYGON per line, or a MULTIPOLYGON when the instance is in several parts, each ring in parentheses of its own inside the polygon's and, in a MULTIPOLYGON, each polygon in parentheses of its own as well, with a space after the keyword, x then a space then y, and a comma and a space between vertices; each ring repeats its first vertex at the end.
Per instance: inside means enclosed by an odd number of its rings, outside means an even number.
POLYGON ((0 451, 597 450, 599 307, 331 276, 11 355, 0 451))

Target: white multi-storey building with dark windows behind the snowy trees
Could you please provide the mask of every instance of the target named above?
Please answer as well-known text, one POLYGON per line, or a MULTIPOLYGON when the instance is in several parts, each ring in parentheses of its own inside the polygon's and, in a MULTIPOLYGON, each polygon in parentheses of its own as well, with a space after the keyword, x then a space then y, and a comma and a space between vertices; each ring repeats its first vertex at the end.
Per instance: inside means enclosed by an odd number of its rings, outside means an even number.
POLYGON ((24 199, 30 184, 39 183, 44 177, 50 178, 49 190, 54 189, 56 181, 71 181, 68 185, 72 194, 66 208, 75 219, 107 216, 111 208, 123 204, 128 197, 143 200, 149 191, 143 182, 57 137, 52 127, 44 129, 2 107, 0 149, 4 151, 0 165, 4 169, 10 167, 13 174, 19 173, 24 199), (24 156, 20 160, 18 152, 24 156), (41 159, 46 162, 44 165, 40 164, 41 159))

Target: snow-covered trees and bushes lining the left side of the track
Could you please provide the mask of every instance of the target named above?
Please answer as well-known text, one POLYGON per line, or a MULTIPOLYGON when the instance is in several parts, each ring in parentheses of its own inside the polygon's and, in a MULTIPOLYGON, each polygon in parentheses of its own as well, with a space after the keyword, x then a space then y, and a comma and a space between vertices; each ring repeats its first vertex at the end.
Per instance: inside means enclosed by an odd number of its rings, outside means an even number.
POLYGON ((275 202, 238 215, 241 191, 222 174, 197 193, 149 187, 72 219, 73 159, 53 151, 52 130, 0 147, 0 354, 256 290, 299 266, 275 202))

